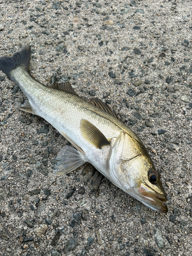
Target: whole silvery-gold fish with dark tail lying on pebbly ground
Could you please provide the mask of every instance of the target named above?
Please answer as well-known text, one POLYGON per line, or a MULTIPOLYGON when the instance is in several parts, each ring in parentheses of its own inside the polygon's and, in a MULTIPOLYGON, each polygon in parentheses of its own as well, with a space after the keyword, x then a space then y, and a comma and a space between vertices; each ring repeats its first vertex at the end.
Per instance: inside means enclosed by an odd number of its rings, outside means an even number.
POLYGON ((153 210, 168 211, 160 175, 139 137, 100 99, 79 97, 69 82, 46 86, 29 73, 31 46, 0 58, 0 69, 27 99, 20 110, 48 121, 72 146, 64 146, 54 175, 88 162, 113 184, 153 210))

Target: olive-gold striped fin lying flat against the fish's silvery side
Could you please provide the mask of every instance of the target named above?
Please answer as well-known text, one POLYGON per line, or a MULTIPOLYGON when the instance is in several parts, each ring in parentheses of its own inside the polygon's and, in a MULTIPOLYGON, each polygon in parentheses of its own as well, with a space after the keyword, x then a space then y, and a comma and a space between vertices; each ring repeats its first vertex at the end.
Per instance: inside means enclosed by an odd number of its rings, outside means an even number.
POLYGON ((97 129, 95 125, 93 125, 86 119, 81 119, 80 131, 83 138, 97 148, 101 148, 105 145, 110 145, 110 142, 99 131, 99 129, 97 129))

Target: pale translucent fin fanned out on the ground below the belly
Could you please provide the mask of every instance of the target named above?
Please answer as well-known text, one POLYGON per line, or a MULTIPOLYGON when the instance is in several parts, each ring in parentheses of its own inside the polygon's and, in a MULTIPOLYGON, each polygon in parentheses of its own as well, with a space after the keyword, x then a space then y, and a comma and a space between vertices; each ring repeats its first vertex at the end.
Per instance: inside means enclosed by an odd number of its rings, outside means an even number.
POLYGON ((55 169, 53 170, 55 176, 68 174, 87 162, 84 155, 71 146, 63 147, 56 160, 58 162, 55 164, 55 169))

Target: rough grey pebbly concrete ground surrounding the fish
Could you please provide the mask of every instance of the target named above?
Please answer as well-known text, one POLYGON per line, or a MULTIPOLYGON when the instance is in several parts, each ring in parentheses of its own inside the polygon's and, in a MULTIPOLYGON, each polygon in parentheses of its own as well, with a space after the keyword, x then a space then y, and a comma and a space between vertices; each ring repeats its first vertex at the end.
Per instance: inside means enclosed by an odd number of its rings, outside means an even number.
POLYGON ((148 148, 168 195, 155 212, 83 167, 55 178, 65 139, 18 110, 0 74, 0 254, 191 255, 191 1, 1 1, 0 56, 32 46, 31 75, 110 104, 148 148))

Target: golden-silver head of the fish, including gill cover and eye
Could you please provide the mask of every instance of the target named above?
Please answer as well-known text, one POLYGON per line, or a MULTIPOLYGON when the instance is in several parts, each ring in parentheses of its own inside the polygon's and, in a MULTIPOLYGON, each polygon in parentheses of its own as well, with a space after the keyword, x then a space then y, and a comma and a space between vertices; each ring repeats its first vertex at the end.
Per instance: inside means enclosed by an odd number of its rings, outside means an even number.
POLYGON ((151 157, 142 142, 121 132, 112 141, 109 157, 111 178, 118 187, 144 205, 160 212, 167 212, 165 190, 151 157))

